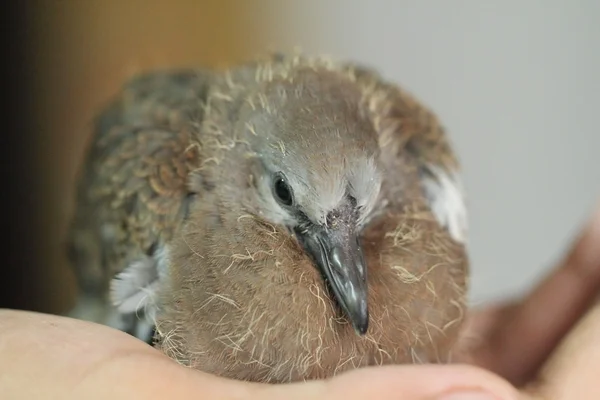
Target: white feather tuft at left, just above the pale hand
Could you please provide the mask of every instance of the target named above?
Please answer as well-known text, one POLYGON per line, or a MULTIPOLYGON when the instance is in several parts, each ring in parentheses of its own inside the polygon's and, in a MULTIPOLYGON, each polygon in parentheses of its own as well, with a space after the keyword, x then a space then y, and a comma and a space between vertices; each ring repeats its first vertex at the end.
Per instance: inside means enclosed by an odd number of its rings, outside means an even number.
POLYGON ((121 314, 143 311, 154 322, 158 304, 156 294, 167 274, 168 249, 161 246, 154 255, 132 262, 110 285, 110 299, 121 314))

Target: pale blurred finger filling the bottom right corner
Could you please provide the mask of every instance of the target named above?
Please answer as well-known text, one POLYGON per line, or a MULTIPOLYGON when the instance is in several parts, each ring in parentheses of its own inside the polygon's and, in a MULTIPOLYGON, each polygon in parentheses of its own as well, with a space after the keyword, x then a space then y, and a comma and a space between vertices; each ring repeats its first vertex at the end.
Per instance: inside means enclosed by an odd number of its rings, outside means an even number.
POLYGON ((600 303, 565 337, 528 391, 552 400, 598 399, 600 303))

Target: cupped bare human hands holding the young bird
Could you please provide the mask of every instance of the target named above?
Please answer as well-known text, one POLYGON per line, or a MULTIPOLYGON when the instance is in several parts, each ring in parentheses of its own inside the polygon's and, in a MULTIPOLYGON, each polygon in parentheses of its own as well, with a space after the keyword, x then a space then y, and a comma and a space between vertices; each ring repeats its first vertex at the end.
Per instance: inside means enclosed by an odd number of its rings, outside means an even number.
POLYGON ((528 296, 472 314, 455 365, 364 368, 287 385, 247 383, 179 366, 108 327, 0 310, 0 398, 591 399, 600 392, 598 293, 600 207, 528 296))

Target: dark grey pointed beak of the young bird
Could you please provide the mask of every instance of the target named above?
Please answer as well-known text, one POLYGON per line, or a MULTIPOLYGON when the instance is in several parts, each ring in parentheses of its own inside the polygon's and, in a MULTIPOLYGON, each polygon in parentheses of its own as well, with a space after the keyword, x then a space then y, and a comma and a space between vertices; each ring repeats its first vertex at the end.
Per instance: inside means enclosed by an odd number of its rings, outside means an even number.
POLYGON ((340 223, 334 228, 312 227, 296 235, 329 282, 356 333, 364 335, 369 327, 367 271, 355 228, 340 223))

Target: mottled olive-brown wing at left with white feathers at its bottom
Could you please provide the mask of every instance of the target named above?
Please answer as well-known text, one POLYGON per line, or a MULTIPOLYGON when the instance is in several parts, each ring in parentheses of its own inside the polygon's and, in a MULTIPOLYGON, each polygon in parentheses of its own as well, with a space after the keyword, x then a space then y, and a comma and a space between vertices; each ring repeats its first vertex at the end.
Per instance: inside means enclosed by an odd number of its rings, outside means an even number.
POLYGON ((146 305, 165 267, 163 246, 185 218, 193 195, 187 178, 199 161, 190 135, 202 121, 211 76, 138 76, 95 122, 69 258, 81 290, 103 297, 110 288, 123 314, 146 305))

